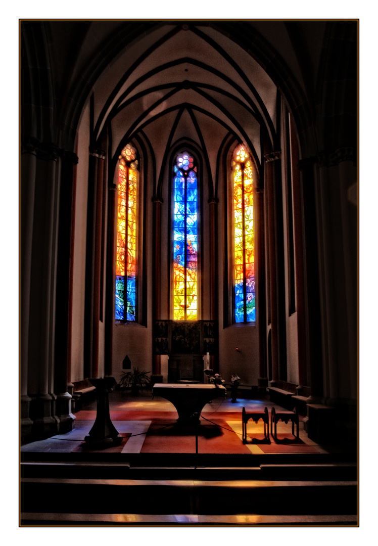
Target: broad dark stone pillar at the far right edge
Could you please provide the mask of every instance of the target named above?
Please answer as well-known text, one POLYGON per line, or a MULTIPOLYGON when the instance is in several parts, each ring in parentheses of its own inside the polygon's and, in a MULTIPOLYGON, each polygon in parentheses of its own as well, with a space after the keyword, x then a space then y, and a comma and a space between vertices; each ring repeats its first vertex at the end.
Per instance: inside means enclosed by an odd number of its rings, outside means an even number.
POLYGON ((353 148, 319 154, 318 203, 323 396, 357 400, 357 183, 353 148))

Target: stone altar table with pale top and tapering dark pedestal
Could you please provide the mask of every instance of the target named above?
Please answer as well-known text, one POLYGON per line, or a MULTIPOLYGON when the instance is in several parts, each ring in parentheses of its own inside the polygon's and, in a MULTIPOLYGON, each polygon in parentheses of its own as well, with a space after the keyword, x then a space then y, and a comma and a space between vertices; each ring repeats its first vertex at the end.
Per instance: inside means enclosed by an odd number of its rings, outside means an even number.
POLYGON ((208 402, 215 398, 225 397, 223 385, 194 383, 155 383, 153 396, 161 396, 175 406, 179 424, 199 424, 200 414, 208 402))

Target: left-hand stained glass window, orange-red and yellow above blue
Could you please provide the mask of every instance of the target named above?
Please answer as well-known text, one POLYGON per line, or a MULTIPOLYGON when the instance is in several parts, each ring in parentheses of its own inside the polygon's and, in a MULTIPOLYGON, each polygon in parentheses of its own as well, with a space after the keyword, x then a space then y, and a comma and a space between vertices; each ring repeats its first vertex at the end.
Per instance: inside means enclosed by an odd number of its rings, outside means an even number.
POLYGON ((136 319, 136 252, 138 210, 138 161, 136 150, 128 144, 119 156, 116 319, 136 319))

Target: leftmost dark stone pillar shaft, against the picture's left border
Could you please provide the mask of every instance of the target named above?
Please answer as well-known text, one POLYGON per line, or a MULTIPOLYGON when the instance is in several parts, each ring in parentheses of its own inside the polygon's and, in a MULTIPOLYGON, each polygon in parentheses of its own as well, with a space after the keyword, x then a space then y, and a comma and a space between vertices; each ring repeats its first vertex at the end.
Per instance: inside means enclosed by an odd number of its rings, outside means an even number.
POLYGON ((20 417, 21 431, 25 434, 31 433, 33 424, 29 417, 32 399, 28 396, 28 346, 37 145, 37 141, 33 139, 22 143, 20 171, 20 417))

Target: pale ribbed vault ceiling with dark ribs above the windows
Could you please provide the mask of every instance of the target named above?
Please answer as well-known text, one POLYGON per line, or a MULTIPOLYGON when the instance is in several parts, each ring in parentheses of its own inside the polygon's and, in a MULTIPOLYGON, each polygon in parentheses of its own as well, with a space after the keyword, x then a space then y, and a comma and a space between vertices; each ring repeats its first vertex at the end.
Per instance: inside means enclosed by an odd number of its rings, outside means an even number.
POLYGON ((209 194, 217 154, 227 134, 247 144, 257 168, 261 138, 277 138, 277 86, 230 38, 214 29, 163 25, 124 48, 94 85, 94 141, 109 132, 115 162, 127 141, 143 133, 157 158, 157 187, 167 153, 189 138, 206 159, 209 194))

